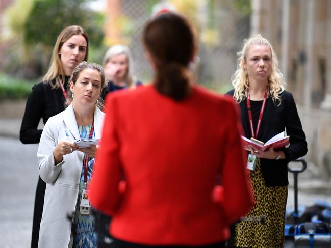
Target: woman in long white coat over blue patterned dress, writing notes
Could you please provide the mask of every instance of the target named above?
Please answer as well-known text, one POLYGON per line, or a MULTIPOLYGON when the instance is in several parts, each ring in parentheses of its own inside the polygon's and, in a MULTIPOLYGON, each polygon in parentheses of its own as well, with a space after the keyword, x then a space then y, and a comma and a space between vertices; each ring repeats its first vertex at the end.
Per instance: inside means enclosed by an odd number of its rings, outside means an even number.
POLYGON ((45 124, 38 147, 39 175, 47 183, 38 247, 97 246, 94 218, 88 201, 82 199, 97 146, 80 148, 72 142, 101 138, 105 114, 99 108, 105 81, 100 65, 80 63, 69 80, 68 107, 45 124))

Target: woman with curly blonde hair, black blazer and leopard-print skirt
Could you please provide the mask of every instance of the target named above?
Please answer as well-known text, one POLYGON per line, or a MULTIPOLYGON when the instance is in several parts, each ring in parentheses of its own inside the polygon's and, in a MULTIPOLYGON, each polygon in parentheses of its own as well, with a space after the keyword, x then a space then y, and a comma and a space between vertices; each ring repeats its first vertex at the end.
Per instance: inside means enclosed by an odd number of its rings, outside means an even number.
POLYGON ((287 163, 307 153, 307 142, 291 93, 270 42, 257 35, 244 41, 228 92, 241 108, 245 136, 262 142, 286 129, 288 147, 247 146, 255 204, 235 225, 236 247, 283 247, 287 201, 287 163))

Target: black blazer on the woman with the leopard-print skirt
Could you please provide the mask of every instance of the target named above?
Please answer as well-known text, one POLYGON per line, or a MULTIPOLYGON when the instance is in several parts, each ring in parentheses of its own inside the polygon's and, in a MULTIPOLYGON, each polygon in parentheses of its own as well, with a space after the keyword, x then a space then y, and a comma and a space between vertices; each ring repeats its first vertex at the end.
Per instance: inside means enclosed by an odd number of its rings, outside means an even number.
MULTIPOLYGON (((234 91, 233 89, 226 94, 233 96, 234 91)), ((287 163, 307 154, 307 142, 294 98, 287 91, 282 92, 280 97, 282 100, 279 106, 276 106, 272 98, 268 97, 257 137, 258 140, 267 142, 285 129, 287 135, 290 136, 290 145, 287 148, 279 149, 284 151, 286 159, 261 159, 262 175, 267 187, 288 185, 287 163)), ((239 106, 245 136, 250 139, 251 131, 246 100, 241 101, 239 106)))

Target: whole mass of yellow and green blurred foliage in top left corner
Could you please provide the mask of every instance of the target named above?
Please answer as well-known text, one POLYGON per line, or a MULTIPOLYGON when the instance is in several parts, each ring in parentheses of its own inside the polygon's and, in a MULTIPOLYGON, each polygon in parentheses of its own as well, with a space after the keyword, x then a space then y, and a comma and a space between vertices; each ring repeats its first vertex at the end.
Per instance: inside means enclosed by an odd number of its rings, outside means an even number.
POLYGON ((90 48, 99 47, 104 37, 104 15, 92 11, 86 2, 17 0, 4 15, 1 37, 7 43, 1 71, 23 78, 45 74, 56 38, 69 25, 84 27, 90 48))

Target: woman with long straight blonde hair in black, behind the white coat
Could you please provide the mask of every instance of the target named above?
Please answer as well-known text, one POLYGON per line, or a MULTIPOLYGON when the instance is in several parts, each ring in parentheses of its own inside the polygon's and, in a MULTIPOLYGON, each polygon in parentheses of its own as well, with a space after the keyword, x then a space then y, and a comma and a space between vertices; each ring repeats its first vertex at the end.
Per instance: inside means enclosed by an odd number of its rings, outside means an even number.
MULTIPOLYGON (((36 144, 40 141, 42 129, 38 124, 42 118, 45 124, 64 110, 67 98, 68 80, 73 69, 88 59, 89 37, 86 31, 77 25, 67 26, 58 36, 50 59, 50 65, 43 81, 32 88, 22 119, 19 139, 23 144, 36 144)), ((31 247, 38 246, 39 226, 42 216, 46 183, 39 177, 31 247)))

